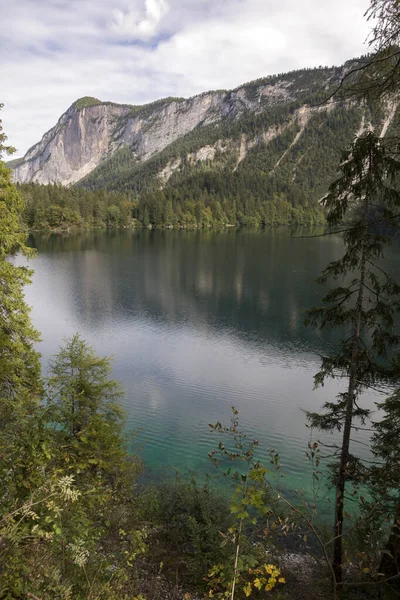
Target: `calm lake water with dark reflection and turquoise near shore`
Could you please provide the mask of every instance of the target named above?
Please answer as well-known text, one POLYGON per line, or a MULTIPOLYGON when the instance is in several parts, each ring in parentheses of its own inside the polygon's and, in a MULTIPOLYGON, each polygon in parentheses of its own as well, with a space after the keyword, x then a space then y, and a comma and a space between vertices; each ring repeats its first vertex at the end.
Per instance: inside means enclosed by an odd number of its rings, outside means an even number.
MULTIPOLYGON (((38 256, 26 297, 44 365, 77 331, 97 353, 114 355, 113 377, 125 388, 128 427, 138 430, 149 477, 169 476, 173 467, 213 474, 207 454, 219 440, 208 423, 228 423, 235 406, 261 457, 279 451, 286 486, 310 489, 302 409, 332 400, 339 384, 313 391, 318 353, 335 338, 323 340, 303 320, 323 294, 314 279, 340 256, 342 242, 298 234, 33 237, 38 256)), ((399 257, 391 251, 392 270, 399 257)), ((364 404, 374 400, 367 394, 364 404)))

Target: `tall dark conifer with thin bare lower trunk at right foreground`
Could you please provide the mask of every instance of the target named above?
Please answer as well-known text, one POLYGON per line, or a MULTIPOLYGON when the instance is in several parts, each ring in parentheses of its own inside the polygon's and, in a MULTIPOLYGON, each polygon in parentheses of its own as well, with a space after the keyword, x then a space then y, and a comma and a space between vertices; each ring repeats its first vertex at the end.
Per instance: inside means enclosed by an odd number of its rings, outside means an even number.
POLYGON ((344 337, 335 354, 322 358, 316 385, 328 377, 347 378, 347 389, 335 402, 326 402, 324 413, 309 413, 312 426, 342 431, 339 466, 336 473, 336 499, 333 542, 333 570, 342 582, 343 518, 346 482, 354 462, 350 454, 350 434, 355 418, 369 412, 359 406, 363 390, 390 378, 385 366, 399 342, 394 334, 393 314, 400 308, 400 286, 380 268, 385 244, 398 220, 400 193, 395 186, 400 162, 390 157, 372 132, 359 137, 343 154, 340 176, 324 198, 331 226, 345 227, 344 255, 329 264, 319 282, 339 281, 324 297, 325 306, 309 311, 307 322, 339 327, 344 337), (378 228, 381 233, 378 233, 378 228))

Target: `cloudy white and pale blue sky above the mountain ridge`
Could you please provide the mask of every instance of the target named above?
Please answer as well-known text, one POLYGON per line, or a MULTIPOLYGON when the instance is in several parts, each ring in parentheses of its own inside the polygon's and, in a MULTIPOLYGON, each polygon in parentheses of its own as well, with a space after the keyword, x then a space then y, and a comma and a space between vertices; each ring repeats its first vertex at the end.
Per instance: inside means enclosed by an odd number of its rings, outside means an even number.
POLYGON ((368 0, 0 0, 16 157, 82 96, 144 104, 366 53, 368 0))

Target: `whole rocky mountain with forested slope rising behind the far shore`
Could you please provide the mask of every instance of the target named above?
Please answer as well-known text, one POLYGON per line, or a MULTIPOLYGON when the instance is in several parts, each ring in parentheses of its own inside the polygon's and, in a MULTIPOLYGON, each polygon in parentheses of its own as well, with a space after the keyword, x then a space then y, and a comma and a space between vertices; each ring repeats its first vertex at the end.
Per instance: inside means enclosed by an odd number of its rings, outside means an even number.
MULTIPOLYGON (((357 132, 399 128, 394 99, 326 101, 352 64, 143 106, 81 98, 10 164, 14 180, 138 195, 159 190, 158 200, 173 204, 178 196, 181 204, 202 196, 205 206, 209 197, 243 203, 248 196, 253 204, 279 197, 294 207, 316 207, 357 132)), ((241 208, 243 214, 263 210, 249 211, 246 202, 241 208)))

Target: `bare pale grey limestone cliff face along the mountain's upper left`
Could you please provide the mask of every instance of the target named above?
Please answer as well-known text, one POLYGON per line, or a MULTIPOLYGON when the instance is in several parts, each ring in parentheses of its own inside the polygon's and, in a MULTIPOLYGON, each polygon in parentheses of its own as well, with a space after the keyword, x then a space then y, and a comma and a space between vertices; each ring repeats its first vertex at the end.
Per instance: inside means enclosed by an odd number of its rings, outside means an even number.
POLYGON ((122 147, 145 161, 195 127, 257 113, 291 99, 291 83, 262 83, 232 92, 209 92, 188 100, 166 99, 131 107, 77 101, 14 168, 19 183, 69 185, 88 175, 122 147))

